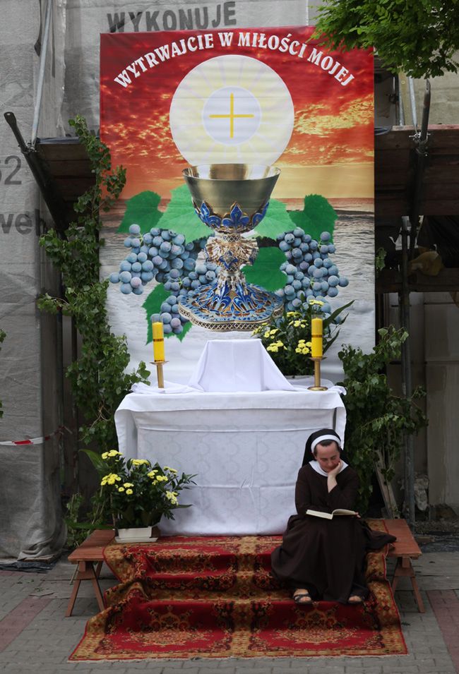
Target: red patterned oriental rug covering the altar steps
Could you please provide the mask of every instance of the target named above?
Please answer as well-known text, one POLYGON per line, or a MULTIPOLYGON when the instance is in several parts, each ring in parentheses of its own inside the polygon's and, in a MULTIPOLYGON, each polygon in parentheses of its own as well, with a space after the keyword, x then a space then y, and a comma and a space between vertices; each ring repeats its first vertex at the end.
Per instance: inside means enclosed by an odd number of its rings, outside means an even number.
POLYGON ((280 540, 172 536, 107 546, 119 585, 70 660, 406 654, 383 552, 368 555, 364 604, 299 606, 270 576, 280 540))

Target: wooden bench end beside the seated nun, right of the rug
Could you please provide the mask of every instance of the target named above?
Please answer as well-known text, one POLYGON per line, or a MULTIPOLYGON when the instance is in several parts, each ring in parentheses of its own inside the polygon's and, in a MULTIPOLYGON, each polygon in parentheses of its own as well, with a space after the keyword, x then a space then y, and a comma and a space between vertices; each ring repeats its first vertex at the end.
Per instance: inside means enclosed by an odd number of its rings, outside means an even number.
POLYGON ((419 546, 405 519, 385 519, 384 523, 386 524, 389 534, 393 534, 393 536, 397 537, 397 540, 393 543, 393 548, 391 548, 388 553, 388 557, 397 558, 392 579, 392 591, 395 593, 399 578, 403 576, 410 578, 413 592, 415 593, 417 608, 420 613, 425 613, 422 596, 416 582, 415 570, 411 563, 411 560, 417 560, 417 558, 422 555, 422 552, 419 550, 419 546))

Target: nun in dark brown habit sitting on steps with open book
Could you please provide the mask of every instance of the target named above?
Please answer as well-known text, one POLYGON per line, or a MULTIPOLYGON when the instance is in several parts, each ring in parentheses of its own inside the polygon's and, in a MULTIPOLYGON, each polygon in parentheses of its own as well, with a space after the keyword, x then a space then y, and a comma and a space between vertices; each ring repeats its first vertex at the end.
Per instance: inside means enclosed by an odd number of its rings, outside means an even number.
POLYGON ((358 514, 333 519, 306 514, 354 510, 359 478, 341 457, 338 433, 322 428, 312 433, 295 487, 295 506, 282 544, 273 550, 273 574, 292 589, 296 603, 338 601, 359 604, 368 596, 367 550, 382 548, 395 536, 371 531, 358 514))

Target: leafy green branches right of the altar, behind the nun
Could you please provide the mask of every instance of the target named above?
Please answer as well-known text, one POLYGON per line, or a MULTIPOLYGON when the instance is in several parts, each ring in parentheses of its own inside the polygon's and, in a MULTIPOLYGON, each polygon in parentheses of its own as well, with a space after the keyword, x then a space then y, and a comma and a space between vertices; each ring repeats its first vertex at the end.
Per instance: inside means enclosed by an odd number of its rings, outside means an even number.
POLYGON ((380 463, 384 479, 390 482, 400 457, 405 434, 427 426, 427 418, 415 400, 425 395, 417 388, 410 398, 395 395, 388 385, 384 368, 399 359, 406 330, 391 325, 378 330, 380 340, 372 353, 346 345, 338 354, 347 394, 345 452, 360 479, 358 510, 365 512, 371 494, 371 476, 380 463), (382 460, 382 463, 381 463, 382 460))

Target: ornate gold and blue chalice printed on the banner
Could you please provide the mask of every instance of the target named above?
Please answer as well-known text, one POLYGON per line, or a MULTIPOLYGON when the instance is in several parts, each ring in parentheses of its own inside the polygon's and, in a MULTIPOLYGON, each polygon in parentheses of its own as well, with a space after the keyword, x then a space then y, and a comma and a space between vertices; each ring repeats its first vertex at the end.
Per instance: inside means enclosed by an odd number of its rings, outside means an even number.
POLYGON ((205 246, 220 267, 215 281, 180 299, 180 313, 211 330, 254 330, 282 315, 282 299, 246 282, 243 265, 254 263, 256 241, 241 234, 266 215, 280 170, 254 164, 207 164, 183 171, 196 214, 215 231, 205 246))

